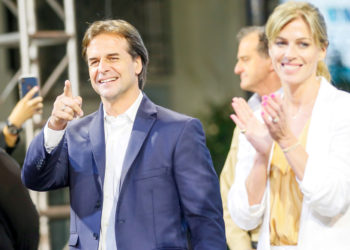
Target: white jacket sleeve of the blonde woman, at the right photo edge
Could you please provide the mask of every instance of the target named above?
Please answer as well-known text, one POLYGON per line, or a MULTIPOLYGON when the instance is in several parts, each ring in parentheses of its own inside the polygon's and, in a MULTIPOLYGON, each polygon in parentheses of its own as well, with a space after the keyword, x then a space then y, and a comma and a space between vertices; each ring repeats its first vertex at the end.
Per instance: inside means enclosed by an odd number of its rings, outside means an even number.
POLYGON ((329 143, 323 141, 321 134, 315 136, 315 142, 308 142, 314 143, 315 150, 309 152, 301 182, 304 201, 325 217, 340 216, 350 206, 350 116, 344 115, 350 106, 350 96, 340 93, 328 105, 329 115, 322 110, 323 117, 331 121, 328 131, 322 131, 330 138, 325 140, 329 143))

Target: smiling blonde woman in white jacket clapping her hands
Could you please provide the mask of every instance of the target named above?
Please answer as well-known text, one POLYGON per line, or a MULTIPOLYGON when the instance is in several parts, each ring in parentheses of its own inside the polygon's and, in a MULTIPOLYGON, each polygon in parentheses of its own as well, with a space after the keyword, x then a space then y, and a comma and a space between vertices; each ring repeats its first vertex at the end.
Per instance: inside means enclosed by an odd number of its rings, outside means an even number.
POLYGON ((349 249, 350 95, 323 62, 323 16, 310 3, 279 5, 266 24, 283 96, 255 114, 234 98, 243 131, 229 210, 245 230, 262 223, 258 249, 349 249))

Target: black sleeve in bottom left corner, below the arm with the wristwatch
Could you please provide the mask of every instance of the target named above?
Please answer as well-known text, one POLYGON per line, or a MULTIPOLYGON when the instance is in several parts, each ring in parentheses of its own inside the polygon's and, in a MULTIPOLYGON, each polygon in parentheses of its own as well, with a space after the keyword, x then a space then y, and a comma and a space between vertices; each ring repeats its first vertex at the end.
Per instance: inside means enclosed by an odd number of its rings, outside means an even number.
POLYGON ((14 248, 36 250, 39 216, 20 178, 17 162, 0 149, 0 209, 14 240, 14 248))

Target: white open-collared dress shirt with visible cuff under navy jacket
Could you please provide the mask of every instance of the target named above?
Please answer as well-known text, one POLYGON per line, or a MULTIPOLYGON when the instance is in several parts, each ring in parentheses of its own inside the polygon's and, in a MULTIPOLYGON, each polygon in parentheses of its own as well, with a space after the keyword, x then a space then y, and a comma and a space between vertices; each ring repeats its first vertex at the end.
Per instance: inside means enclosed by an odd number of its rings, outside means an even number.
MULTIPOLYGON (((120 176, 132 127, 142 97, 143 95, 140 91, 139 96, 129 109, 117 117, 109 116, 104 111, 106 169, 99 250, 117 250, 115 215, 120 192, 120 176)), ((64 130, 55 131, 46 125, 44 128, 46 151, 50 153, 59 144, 63 135, 64 130)))

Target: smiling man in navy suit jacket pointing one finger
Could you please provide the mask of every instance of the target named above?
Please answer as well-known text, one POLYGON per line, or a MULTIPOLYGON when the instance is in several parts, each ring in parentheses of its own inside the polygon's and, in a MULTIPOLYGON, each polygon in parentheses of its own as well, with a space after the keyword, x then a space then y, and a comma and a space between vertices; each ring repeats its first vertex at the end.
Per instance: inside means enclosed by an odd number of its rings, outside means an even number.
POLYGON ((97 21, 82 45, 100 108, 74 119, 83 115, 82 99, 65 82, 28 149, 25 185, 69 187, 70 249, 225 250, 202 126, 141 91, 148 53, 137 30, 122 20, 97 21))

